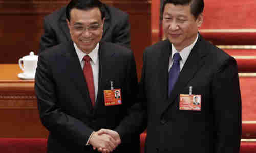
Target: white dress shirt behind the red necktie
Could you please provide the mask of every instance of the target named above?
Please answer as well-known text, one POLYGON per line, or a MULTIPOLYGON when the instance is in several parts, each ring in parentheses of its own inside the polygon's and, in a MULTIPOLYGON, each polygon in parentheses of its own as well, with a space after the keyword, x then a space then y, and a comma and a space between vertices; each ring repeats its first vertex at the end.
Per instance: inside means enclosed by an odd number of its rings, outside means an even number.
MULTIPOLYGON (((76 50, 76 54, 79 58, 79 62, 81 64, 81 67, 83 69, 84 66, 84 60, 83 57, 86 56, 87 54, 82 52, 77 45, 74 43, 74 47, 76 50)), ((93 70, 93 81, 94 81, 94 89, 95 89, 95 103, 97 100, 97 94, 98 94, 98 83, 99 83, 99 43, 96 45, 96 47, 93 49, 93 51, 91 53, 89 53, 88 55, 90 56, 90 58, 92 59, 90 61, 90 64, 92 66, 92 70, 93 70)))

